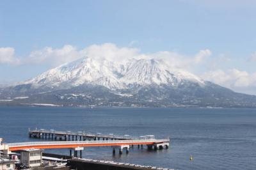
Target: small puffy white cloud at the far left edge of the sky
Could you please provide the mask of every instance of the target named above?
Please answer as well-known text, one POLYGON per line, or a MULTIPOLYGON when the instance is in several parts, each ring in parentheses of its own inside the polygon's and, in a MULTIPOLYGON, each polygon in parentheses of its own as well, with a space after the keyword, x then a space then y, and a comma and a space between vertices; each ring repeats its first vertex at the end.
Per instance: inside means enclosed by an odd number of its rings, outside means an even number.
POLYGON ((12 47, 0 48, 0 64, 17 64, 19 59, 14 57, 15 50, 12 47))

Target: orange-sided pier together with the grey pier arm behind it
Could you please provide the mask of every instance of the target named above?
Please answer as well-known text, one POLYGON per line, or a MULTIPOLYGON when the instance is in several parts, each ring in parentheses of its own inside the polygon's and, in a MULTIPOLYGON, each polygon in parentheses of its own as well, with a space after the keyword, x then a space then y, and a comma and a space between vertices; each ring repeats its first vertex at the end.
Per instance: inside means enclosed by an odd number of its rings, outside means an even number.
POLYGON ((56 131, 56 130, 30 130, 29 137, 36 137, 40 139, 50 139, 54 141, 38 141, 27 143, 8 143, 8 151, 29 150, 29 149, 58 149, 69 148, 70 157, 82 157, 84 147, 99 147, 111 146, 113 154, 116 150, 122 154, 125 150, 129 153, 129 149, 138 145, 138 148, 147 147, 148 150, 161 150, 168 148, 170 139, 155 139, 154 135, 145 135, 140 137, 131 137, 130 135, 114 135, 114 134, 101 134, 101 133, 88 133, 88 132, 71 132, 71 131, 56 131), (74 154, 72 153, 74 151, 74 154))

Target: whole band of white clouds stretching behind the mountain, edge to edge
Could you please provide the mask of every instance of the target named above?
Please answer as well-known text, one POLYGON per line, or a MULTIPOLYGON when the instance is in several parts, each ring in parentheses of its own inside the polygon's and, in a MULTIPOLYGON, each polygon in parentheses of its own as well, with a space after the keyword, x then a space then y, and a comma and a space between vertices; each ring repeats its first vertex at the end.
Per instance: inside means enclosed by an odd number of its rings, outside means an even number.
MULTIPOLYGON (((237 69, 228 69, 227 65, 232 61, 224 54, 212 56, 209 49, 200 50, 197 54, 186 56, 178 52, 159 51, 151 54, 143 54, 140 49, 132 47, 118 47, 113 43, 104 43, 101 45, 90 45, 84 49, 78 50, 72 45, 64 45, 61 48, 54 49, 45 47, 44 49, 30 52, 27 57, 18 58, 15 56, 15 49, 12 47, 0 48, 0 64, 15 65, 51 65, 52 67, 74 61, 83 56, 99 60, 108 59, 109 61, 122 62, 127 59, 163 59, 171 66, 181 68, 189 72, 201 75, 207 81, 215 82, 221 86, 234 89, 235 91, 245 91, 250 89, 249 93, 256 93, 256 72, 248 73, 237 69), (211 69, 212 71, 209 71, 211 69)), ((251 56, 251 61, 256 61, 256 53, 251 56)))

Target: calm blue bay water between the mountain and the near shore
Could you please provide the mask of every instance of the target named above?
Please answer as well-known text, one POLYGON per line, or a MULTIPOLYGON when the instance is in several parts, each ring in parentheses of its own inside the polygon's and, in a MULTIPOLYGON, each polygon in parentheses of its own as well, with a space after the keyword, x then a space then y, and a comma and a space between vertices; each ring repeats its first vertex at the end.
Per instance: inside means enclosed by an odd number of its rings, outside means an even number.
POLYGON ((113 156, 110 147, 85 148, 84 158, 173 169, 256 169, 256 109, 0 107, 0 137, 6 143, 40 141, 28 138, 28 128, 172 140, 168 150, 134 147, 121 156, 113 156))

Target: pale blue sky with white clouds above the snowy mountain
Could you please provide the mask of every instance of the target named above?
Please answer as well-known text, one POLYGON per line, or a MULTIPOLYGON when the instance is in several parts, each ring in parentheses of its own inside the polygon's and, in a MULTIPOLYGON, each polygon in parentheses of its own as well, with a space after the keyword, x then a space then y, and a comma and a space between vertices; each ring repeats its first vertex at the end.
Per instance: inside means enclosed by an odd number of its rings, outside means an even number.
POLYGON ((83 56, 164 58, 256 95, 256 1, 0 1, 0 84, 83 56))

